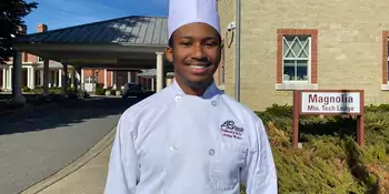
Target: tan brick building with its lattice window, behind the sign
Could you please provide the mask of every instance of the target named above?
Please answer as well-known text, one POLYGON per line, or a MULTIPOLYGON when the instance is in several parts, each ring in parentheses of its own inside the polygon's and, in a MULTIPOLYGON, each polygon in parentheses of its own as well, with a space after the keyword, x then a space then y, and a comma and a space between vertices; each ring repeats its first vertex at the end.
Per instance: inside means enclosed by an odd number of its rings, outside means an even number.
MULTIPOLYGON (((235 1, 220 0, 225 41, 218 84, 235 93, 235 1)), ((368 1, 241 1, 241 102, 291 104, 296 89, 365 90, 388 103, 389 4, 368 1)))

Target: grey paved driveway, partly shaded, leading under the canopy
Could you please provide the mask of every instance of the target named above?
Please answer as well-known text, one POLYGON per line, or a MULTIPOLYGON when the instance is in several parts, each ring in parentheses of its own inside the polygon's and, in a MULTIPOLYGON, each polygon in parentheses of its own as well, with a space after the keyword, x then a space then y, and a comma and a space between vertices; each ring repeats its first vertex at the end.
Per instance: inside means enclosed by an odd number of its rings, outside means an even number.
POLYGON ((0 118, 1 193, 19 193, 81 156, 131 104, 102 98, 0 118))

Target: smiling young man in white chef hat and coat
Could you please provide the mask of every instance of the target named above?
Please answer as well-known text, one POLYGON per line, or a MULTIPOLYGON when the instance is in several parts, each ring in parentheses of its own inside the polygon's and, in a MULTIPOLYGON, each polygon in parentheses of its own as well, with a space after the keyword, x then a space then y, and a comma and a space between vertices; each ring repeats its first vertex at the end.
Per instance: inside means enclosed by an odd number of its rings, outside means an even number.
POLYGON ((174 81, 121 116, 106 194, 276 194, 261 120, 213 83, 217 1, 170 0, 168 31, 174 81))

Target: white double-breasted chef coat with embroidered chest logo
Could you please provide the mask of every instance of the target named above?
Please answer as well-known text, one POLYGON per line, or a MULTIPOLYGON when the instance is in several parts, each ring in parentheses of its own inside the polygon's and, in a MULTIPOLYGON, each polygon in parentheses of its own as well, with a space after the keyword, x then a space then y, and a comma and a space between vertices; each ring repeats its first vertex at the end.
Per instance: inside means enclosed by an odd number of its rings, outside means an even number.
POLYGON ((129 108, 113 142, 106 194, 276 194, 263 124, 215 84, 187 95, 176 81, 129 108))

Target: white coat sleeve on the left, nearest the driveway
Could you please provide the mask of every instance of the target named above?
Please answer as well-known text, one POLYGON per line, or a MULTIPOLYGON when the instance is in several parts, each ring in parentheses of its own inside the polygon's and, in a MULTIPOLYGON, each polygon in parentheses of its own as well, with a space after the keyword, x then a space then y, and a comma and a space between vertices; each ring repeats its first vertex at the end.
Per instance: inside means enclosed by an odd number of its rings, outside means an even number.
POLYGON ((104 194, 134 194, 139 182, 139 165, 134 149, 134 129, 126 113, 119 120, 113 141, 104 194))

